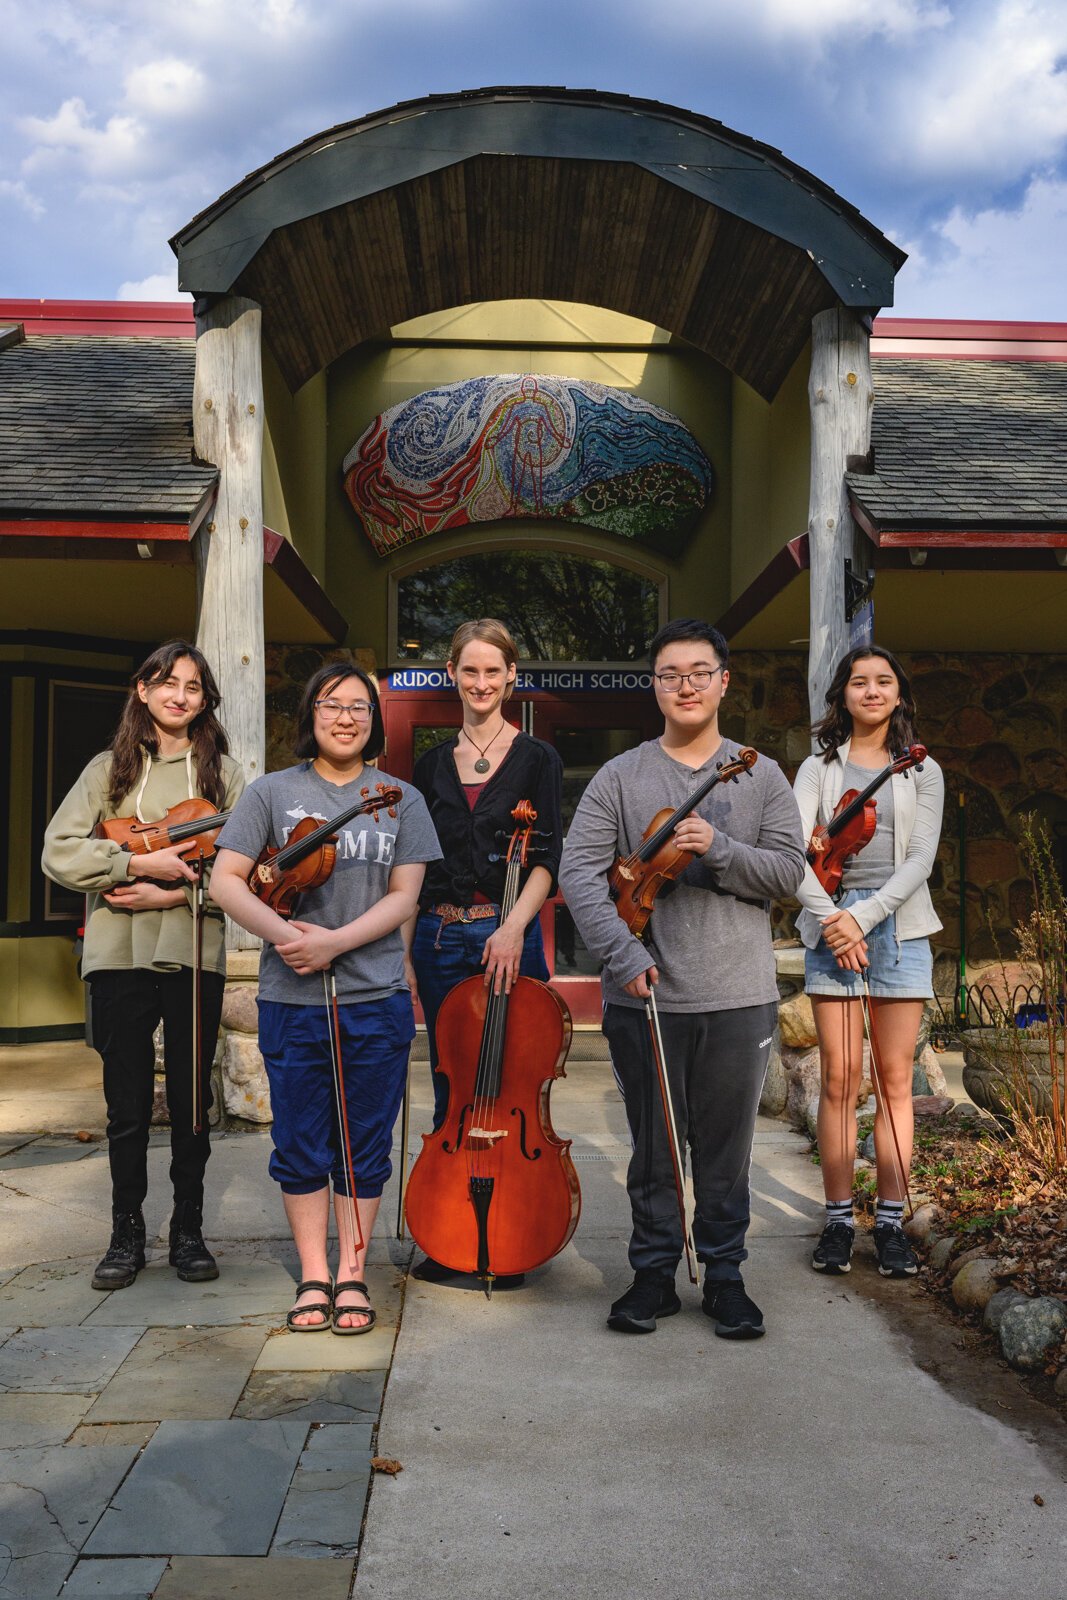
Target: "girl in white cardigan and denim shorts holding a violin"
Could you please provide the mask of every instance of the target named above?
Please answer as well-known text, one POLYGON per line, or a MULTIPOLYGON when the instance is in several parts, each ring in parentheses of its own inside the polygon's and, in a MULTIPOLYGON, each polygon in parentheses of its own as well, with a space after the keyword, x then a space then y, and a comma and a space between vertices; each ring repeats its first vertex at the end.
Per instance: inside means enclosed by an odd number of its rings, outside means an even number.
MULTIPOLYGON (((816 824, 830 821, 845 790, 865 789, 917 741, 912 690, 886 650, 851 650, 825 701, 827 714, 813 728, 821 754, 803 762, 793 784, 808 838, 816 824)), ((923 1002, 933 998, 929 934, 941 928, 926 886, 941 837, 941 768, 926 758, 921 768, 894 773, 875 798, 877 832, 848 859, 837 899, 811 867, 797 891, 803 907, 798 931, 806 946, 805 989, 822 1058, 817 1131, 827 1219, 811 1266, 829 1274, 851 1267, 865 979, 881 1078, 875 1114, 875 1251, 883 1277, 904 1278, 918 1272, 902 1230, 904 1178, 912 1162, 915 1043, 923 1002)))

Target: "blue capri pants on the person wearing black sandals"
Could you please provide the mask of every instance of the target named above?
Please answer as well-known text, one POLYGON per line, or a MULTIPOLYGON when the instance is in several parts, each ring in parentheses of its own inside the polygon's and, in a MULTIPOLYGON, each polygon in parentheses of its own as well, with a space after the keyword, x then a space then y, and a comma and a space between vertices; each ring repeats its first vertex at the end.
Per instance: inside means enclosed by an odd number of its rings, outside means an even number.
MULTIPOLYGON (((392 1173, 392 1130, 408 1075, 414 1010, 403 989, 384 1000, 339 1005, 338 1014, 355 1194, 376 1200, 392 1173)), ((331 1179, 336 1194, 349 1192, 330 1021, 325 1002, 259 1002, 259 1050, 274 1112, 270 1176, 288 1195, 315 1194, 331 1179)))

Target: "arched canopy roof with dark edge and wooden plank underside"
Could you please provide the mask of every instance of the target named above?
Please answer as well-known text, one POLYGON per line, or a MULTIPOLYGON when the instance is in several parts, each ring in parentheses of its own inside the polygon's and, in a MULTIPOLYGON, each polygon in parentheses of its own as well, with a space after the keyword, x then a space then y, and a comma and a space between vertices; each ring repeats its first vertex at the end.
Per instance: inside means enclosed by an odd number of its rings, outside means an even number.
POLYGON ((669 328, 771 397, 835 304, 904 253, 779 150, 693 112, 561 88, 408 101, 307 139, 173 240, 243 294, 293 387, 448 306, 565 299, 669 328))

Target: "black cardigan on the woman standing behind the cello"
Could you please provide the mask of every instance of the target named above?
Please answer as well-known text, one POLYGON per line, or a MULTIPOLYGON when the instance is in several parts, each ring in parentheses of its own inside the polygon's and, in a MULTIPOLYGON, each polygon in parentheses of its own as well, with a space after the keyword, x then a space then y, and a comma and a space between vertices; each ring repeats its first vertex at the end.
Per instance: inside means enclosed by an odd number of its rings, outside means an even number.
MULTIPOLYGON (((464 786, 453 758, 454 741, 445 739, 427 750, 414 765, 413 782, 426 800, 437 837, 445 853, 443 861, 430 861, 422 880, 419 906, 470 906, 475 893, 499 904, 504 894, 506 862, 490 861, 490 854, 507 853, 507 838, 515 830, 512 806, 518 800, 533 802, 537 813, 534 827, 549 838, 534 838, 537 846, 530 866, 545 867, 552 874, 555 893, 560 854, 563 851, 563 818, 560 792, 563 762, 542 739, 520 733, 488 779, 477 798, 474 811, 467 803, 464 786), (504 832, 507 838, 498 835, 504 832)), ((528 874, 523 874, 523 880, 528 874)))

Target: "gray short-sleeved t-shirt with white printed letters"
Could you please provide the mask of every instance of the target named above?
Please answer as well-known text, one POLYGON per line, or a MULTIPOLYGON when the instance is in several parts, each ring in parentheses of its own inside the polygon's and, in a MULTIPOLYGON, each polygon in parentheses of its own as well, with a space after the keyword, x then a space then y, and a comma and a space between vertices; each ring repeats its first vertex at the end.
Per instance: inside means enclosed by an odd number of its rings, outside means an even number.
MULTIPOLYGON (((237 802, 232 818, 219 834, 219 850, 235 850, 254 861, 266 845, 275 848, 285 845, 302 818, 314 816, 325 822, 339 816, 362 798, 362 789, 370 786, 373 792, 379 782, 395 784, 402 790, 397 816, 382 808, 378 821, 366 814, 346 822, 338 837, 333 872, 320 888, 309 890, 296 902, 299 922, 341 928, 378 904, 389 890, 389 874, 394 867, 440 859, 442 846, 426 800, 411 784, 370 766, 350 784, 330 784, 318 776, 310 762, 288 766, 282 773, 267 773, 237 802)), ((400 928, 374 939, 373 944, 346 950, 334 962, 334 974, 338 998, 342 1002, 382 1000, 406 989, 400 928)), ((301 978, 285 965, 272 944, 264 944, 259 960, 259 997, 280 1000, 285 1005, 322 1005, 322 974, 309 973, 301 978)))

